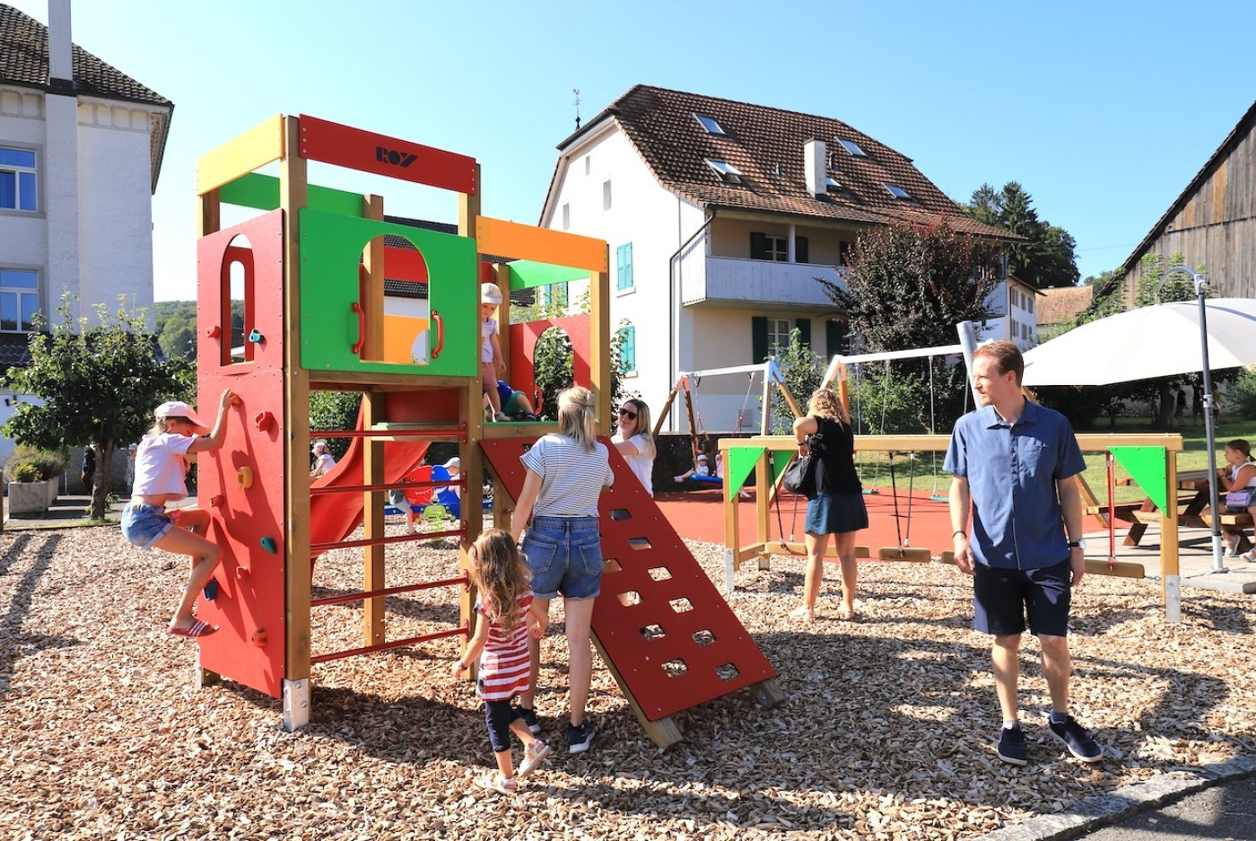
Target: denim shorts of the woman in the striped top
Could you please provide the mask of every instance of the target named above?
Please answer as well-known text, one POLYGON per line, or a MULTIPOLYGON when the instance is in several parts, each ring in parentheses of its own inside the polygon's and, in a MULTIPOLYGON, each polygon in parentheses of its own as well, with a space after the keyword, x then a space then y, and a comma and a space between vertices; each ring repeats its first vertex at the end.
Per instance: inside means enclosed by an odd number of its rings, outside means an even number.
POLYGON ((602 592, 602 536, 597 517, 533 517, 524 534, 533 593, 546 601, 597 598, 602 592))

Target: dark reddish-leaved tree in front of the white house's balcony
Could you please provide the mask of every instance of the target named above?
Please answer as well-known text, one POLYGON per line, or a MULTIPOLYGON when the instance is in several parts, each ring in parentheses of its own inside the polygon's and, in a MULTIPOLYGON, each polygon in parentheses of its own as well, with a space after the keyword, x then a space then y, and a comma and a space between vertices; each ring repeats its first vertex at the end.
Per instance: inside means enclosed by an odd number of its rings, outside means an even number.
MULTIPOLYGON (((956 343, 957 323, 988 317, 986 302, 1002 283, 1001 260, 1001 244, 946 224, 888 225, 859 235, 843 272, 845 288, 820 283, 865 349, 938 347, 956 343)), ((961 414, 967 393, 962 366, 934 365, 933 393, 928 360, 894 362, 893 377, 907 381, 919 426, 929 426, 931 407, 938 427, 961 414)))

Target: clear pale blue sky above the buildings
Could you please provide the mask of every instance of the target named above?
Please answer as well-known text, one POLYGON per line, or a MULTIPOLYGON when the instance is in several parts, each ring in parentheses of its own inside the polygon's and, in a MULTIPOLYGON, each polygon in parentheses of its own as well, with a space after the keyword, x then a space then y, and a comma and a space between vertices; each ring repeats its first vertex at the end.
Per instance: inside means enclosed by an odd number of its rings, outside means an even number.
MULTIPOLYGON (((48 21, 46 0, 8 3, 48 21)), ((175 103, 157 300, 195 297, 197 157, 280 112, 472 156, 481 212, 534 225, 575 89, 585 121, 638 83, 821 114, 956 201, 1019 181, 1086 277, 1124 261, 1256 98, 1250 0, 78 0, 72 18, 74 43, 175 103)), ((310 181, 456 221, 451 194, 310 181)))

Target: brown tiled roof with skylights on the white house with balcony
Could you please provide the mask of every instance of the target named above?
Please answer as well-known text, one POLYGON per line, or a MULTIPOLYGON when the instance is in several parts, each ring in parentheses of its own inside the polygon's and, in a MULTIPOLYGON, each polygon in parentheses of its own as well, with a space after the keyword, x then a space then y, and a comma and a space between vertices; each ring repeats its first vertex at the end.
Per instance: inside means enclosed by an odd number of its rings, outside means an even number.
POLYGON ((945 219, 956 230, 1019 239, 970 219, 909 158, 839 119, 638 84, 563 141, 559 150, 607 118, 618 122, 664 187, 702 206, 855 225, 929 224, 945 219), (695 114, 713 117, 725 135, 708 133, 695 114), (839 138, 858 143, 867 157, 848 153, 839 138), (824 196, 808 191, 803 145, 809 140, 826 143, 828 173, 842 185, 839 190, 824 196), (741 172, 741 184, 722 181, 706 158, 735 166, 741 172), (896 199, 885 184, 903 187, 911 199, 896 199))

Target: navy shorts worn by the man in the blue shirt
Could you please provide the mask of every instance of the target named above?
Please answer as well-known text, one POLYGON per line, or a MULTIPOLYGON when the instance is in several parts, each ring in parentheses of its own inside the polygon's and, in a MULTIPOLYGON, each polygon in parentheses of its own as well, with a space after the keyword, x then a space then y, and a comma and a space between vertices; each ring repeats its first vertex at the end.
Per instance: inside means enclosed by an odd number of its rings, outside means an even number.
POLYGON ((983 634, 1068 636, 1073 603, 1068 561, 1040 569, 1000 569, 972 564, 972 626, 983 634))

